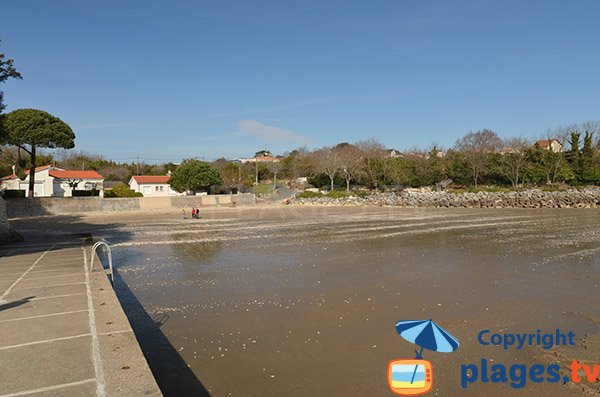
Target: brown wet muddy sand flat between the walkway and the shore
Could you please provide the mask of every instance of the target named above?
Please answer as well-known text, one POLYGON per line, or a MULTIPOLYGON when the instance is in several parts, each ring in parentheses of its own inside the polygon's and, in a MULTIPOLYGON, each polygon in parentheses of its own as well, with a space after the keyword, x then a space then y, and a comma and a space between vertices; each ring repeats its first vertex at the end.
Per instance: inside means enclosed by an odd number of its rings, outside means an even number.
MULTIPOLYGON (((461 364, 482 358, 558 363, 561 376, 574 358, 600 363, 597 209, 275 206, 57 220, 13 224, 26 236, 106 238, 123 282, 213 396, 392 395, 387 363, 415 348, 394 324, 412 319, 461 342, 424 352, 430 395, 600 395, 597 384, 563 382, 460 388, 461 364), (476 339, 556 328, 577 346, 504 351, 476 339)), ((175 395, 183 386, 161 380, 163 364, 159 384, 175 395)))

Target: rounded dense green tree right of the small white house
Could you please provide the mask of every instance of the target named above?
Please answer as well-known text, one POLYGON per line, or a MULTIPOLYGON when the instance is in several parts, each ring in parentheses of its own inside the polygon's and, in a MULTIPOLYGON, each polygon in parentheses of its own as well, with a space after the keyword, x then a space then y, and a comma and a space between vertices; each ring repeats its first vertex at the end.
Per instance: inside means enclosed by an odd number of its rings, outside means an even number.
POLYGON ((185 160, 171 175, 169 185, 180 193, 208 189, 223 183, 219 171, 200 160, 185 160))

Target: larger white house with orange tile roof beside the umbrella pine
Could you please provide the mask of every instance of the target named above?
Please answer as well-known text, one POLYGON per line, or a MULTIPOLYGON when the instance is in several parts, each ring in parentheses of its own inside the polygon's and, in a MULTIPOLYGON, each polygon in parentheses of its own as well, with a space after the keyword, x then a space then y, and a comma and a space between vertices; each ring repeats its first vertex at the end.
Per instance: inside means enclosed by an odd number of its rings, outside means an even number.
MULTIPOLYGON (((2 190, 24 190, 29 194, 29 170, 25 180, 15 174, 0 178, 2 190)), ((103 195, 104 177, 96 171, 65 170, 54 165, 35 169, 34 197, 72 197, 73 190, 99 190, 103 195)))

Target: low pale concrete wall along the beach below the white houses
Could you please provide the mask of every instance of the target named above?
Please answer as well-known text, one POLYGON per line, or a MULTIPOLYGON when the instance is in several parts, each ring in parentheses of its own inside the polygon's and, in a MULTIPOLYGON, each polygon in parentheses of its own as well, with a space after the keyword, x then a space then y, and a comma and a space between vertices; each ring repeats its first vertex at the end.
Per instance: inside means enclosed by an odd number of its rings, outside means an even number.
POLYGON ((133 198, 40 197, 33 200, 8 199, 6 202, 6 216, 15 218, 102 211, 148 211, 170 208, 187 209, 191 207, 251 205, 255 203, 256 197, 251 193, 133 198))

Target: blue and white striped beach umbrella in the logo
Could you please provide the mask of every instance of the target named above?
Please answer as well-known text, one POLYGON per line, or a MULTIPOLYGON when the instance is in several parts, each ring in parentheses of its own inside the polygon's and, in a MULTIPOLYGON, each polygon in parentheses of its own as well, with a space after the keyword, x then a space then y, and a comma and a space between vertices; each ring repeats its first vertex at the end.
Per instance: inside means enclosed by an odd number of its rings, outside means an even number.
POLYGON ((433 320, 398 321, 396 331, 407 341, 421 347, 417 358, 421 358, 423 348, 441 353, 451 353, 458 349, 458 339, 437 325, 433 320))

